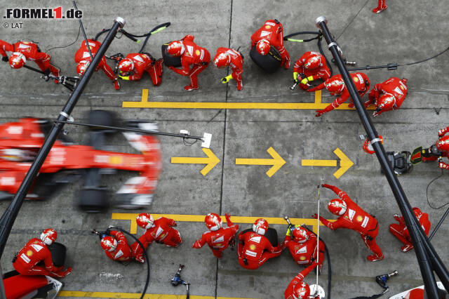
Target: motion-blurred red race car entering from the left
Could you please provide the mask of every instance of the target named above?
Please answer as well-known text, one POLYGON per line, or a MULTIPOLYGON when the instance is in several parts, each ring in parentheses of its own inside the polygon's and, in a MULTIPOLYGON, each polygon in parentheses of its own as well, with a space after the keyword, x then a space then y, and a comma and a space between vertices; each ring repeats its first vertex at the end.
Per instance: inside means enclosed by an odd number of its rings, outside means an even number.
MULTIPOLYGON (((117 121, 114 114, 102 110, 89 112, 88 119, 98 126, 113 126, 117 121)), ((153 131, 156 126, 142 121, 126 124, 153 131)), ((50 121, 35 118, 0 125, 0 199, 10 199, 18 191, 50 127, 50 121)), ((83 175, 79 207, 89 212, 102 211, 107 207, 108 196, 106 188, 101 186, 101 175, 116 169, 138 171, 140 175, 126 181, 117 192, 119 196, 114 205, 119 208, 142 208, 151 204, 162 167, 159 140, 153 135, 124 132, 130 145, 142 154, 102 150, 105 148, 105 135, 113 132, 92 129, 88 145, 75 145, 61 135, 44 161, 27 199, 48 197, 62 183, 83 175)))

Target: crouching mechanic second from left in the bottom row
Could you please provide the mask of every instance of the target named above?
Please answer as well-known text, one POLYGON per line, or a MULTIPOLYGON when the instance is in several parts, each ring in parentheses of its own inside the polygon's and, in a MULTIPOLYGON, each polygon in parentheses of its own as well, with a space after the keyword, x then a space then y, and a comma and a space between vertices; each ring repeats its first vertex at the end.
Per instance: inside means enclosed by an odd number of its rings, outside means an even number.
POLYGON ((111 260, 128 262, 132 258, 128 240, 123 232, 108 230, 107 234, 102 235, 100 244, 111 260))

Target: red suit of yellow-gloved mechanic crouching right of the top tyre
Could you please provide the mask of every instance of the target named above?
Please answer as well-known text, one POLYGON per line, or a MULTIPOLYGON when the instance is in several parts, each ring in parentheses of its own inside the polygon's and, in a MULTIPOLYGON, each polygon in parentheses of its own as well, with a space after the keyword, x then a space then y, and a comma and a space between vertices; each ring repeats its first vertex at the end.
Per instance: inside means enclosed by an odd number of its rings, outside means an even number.
MULTIPOLYGON (((326 64, 326 59, 318 52, 314 51, 308 51, 304 53, 300 59, 296 60, 295 66, 293 67, 293 74, 294 79, 297 79, 298 82, 301 82, 304 79, 307 79, 308 82, 314 81, 317 79, 326 80, 330 78, 330 70, 328 65, 326 64), (304 67, 304 62, 307 60, 318 57, 320 59, 319 67, 316 67, 315 69, 307 69, 304 67), (295 74, 303 74, 304 76, 295 77, 295 74)), ((310 85, 308 83, 300 83, 300 88, 307 90, 310 85)))

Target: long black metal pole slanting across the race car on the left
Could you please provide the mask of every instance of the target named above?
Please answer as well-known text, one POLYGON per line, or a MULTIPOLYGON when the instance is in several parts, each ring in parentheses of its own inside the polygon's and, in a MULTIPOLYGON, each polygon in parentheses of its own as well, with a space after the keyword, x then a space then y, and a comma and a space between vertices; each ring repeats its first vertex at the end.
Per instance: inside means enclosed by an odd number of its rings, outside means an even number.
MULTIPOLYGON (((69 100, 67 100, 65 107, 62 109, 58 116, 58 121, 67 121, 69 119, 72 110, 74 109, 76 102, 78 102, 81 93, 83 93, 84 88, 88 84, 89 79, 91 79, 93 72, 95 72, 98 63, 100 63, 101 58, 105 55, 107 48, 111 44, 114 39, 117 30, 119 27, 123 27, 125 25, 125 20, 118 17, 114 20, 114 25, 112 25, 112 29, 107 34, 105 41, 103 41, 100 49, 98 49, 97 55, 93 58, 91 64, 86 69, 86 73, 81 77, 81 81, 76 86, 73 93, 70 95, 69 100)), ((51 128, 50 133, 46 136, 46 140, 43 142, 41 150, 36 155, 36 158, 33 161, 33 164, 29 167, 27 175, 22 181, 22 184, 19 187, 18 192, 15 194, 13 201, 8 206, 4 214, 0 219, 0 258, 3 255, 3 251, 6 245, 6 240, 8 239, 9 233, 11 232, 11 228, 13 227, 14 220, 17 217, 20 207, 23 204, 23 201, 28 193, 29 187, 31 187, 34 178, 39 173, 39 170, 45 161, 48 153, 55 143, 55 140, 58 138, 60 131, 64 128, 64 124, 60 122, 55 122, 53 127, 51 128)))

